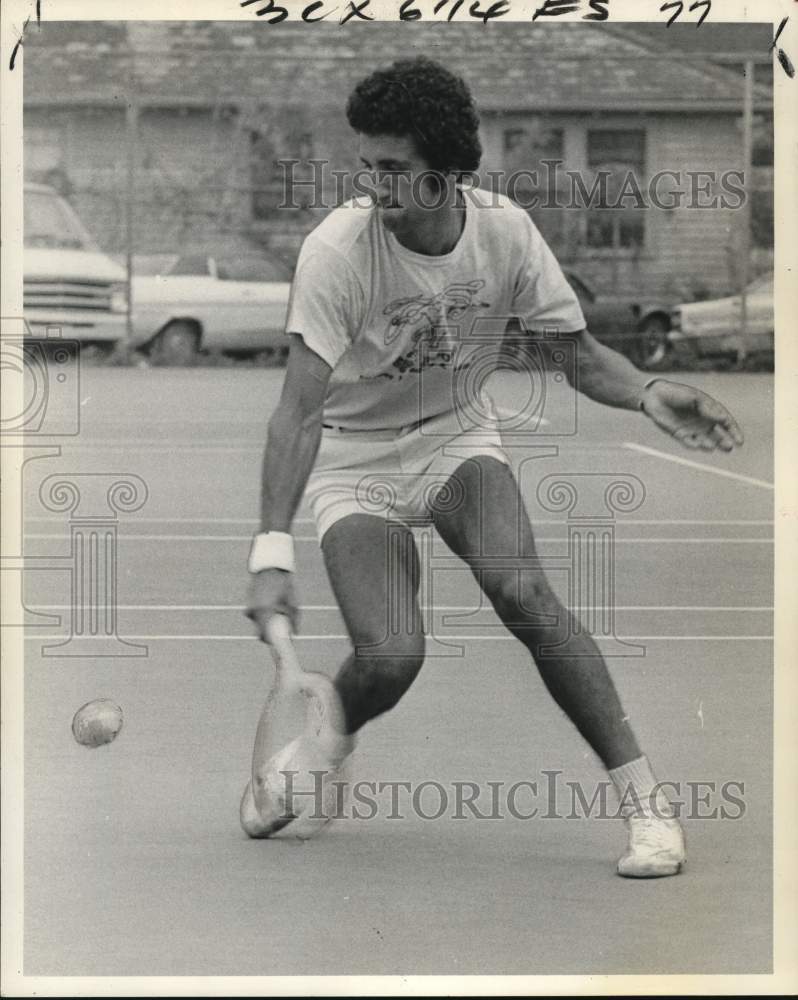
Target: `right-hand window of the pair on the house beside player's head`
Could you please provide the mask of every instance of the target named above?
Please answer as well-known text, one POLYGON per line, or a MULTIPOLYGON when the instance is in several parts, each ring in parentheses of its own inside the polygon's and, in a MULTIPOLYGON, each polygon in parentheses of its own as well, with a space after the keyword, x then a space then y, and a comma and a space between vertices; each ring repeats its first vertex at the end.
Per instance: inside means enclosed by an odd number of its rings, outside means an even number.
POLYGON ((587 244, 633 250, 645 242, 644 211, 636 191, 645 190, 646 134, 642 129, 589 129, 587 165, 595 191, 587 208, 587 244))

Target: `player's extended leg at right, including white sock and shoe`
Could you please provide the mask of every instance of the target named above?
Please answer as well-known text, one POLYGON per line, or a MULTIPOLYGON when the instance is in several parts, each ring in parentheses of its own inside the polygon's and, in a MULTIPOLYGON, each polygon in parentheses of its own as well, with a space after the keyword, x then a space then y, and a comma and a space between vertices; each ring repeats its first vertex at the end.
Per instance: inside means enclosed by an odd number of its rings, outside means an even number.
POLYGON ((570 627, 570 612, 534 565, 532 528, 512 471, 495 458, 479 456, 455 475, 455 495, 462 493, 464 501, 455 510, 436 513, 436 527, 471 567, 499 617, 532 654, 554 700, 607 768, 629 821, 629 847, 618 863, 619 874, 675 875, 684 865, 681 827, 657 790, 604 658, 590 636, 570 627), (506 566, 497 568, 497 557, 500 564, 506 559, 506 566))

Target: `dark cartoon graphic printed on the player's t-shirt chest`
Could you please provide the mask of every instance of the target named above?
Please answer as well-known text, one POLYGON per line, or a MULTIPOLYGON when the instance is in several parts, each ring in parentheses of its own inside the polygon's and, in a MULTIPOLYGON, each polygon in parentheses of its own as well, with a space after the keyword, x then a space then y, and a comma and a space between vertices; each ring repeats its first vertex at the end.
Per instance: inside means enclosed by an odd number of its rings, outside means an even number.
POLYGON ((393 371, 380 372, 377 377, 401 379, 406 372, 419 372, 422 356, 427 367, 451 365, 460 342, 457 321, 470 310, 490 308, 489 302, 477 299, 484 287, 481 278, 457 281, 436 295, 414 295, 390 302, 383 309, 383 315, 391 317, 385 331, 386 346, 408 334, 413 346, 396 358, 393 371))

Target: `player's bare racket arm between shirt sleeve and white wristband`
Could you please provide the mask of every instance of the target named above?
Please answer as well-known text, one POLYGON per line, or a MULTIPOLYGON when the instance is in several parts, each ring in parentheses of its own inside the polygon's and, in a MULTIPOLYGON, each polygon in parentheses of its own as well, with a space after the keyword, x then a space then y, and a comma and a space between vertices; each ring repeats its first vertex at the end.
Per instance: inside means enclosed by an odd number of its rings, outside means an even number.
POLYGON ((293 334, 283 391, 269 420, 261 475, 261 531, 290 532, 321 441, 332 369, 293 334))

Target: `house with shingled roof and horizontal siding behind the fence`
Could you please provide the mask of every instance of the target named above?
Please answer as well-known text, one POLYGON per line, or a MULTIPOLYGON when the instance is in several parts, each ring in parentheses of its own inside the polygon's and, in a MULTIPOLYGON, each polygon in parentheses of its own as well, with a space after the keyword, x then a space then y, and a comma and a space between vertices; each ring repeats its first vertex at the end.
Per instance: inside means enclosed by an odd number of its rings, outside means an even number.
MULTIPOLYGON (((688 30, 703 52, 762 54, 746 185, 756 273, 772 255, 770 34, 767 25, 729 29, 688 30)), ((605 171, 613 201, 630 172, 645 192, 658 172, 679 171, 684 200, 695 201, 691 186, 706 181, 685 172, 743 169, 741 63, 685 57, 664 26, 45 22, 25 44, 26 176, 58 186, 104 247, 122 251, 134 106, 136 252, 224 238, 290 262, 326 211, 316 202, 342 196, 333 171, 356 168, 344 115, 352 86, 412 54, 468 80, 482 120, 483 183, 503 187, 514 174, 517 200, 531 206, 537 196, 543 204, 530 211, 553 249, 598 290, 683 299, 735 286, 739 209, 638 209, 633 196, 618 209, 563 207, 573 173, 589 188, 605 171), (281 207, 281 160, 297 161, 294 180, 308 182, 296 207, 281 207), (314 175, 312 160, 327 167, 314 175), (544 161, 557 169, 547 175, 544 161)), ((666 178, 660 190, 669 189, 666 178)), ((723 193, 716 182, 697 199, 723 193)))

